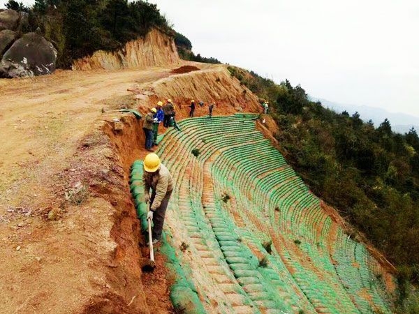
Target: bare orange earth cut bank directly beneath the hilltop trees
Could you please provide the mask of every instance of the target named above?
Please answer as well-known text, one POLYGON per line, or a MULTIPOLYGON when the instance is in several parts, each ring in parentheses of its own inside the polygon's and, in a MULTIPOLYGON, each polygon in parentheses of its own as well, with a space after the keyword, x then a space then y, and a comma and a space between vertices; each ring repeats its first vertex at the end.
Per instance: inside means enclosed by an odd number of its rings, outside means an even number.
POLYGON ((144 38, 126 43, 117 52, 99 50, 91 57, 73 61, 73 70, 117 70, 145 68, 179 63, 175 42, 170 36, 153 29, 144 38))

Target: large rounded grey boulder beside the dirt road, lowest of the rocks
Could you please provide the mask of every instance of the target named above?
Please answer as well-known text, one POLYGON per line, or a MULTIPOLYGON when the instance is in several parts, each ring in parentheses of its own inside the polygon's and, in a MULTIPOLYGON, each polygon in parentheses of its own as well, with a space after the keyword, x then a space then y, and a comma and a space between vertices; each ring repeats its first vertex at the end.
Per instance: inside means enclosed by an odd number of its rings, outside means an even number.
POLYGON ((26 33, 13 43, 0 61, 0 76, 24 77, 54 72, 57 50, 37 33, 26 33))

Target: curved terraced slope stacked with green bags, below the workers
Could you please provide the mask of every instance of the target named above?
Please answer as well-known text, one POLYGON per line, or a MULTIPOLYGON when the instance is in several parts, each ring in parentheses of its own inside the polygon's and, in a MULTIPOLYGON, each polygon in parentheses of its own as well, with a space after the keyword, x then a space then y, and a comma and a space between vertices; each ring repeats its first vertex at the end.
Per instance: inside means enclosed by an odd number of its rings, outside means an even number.
POLYGON ((188 119, 159 148, 175 178, 169 242, 205 311, 391 313, 385 269, 323 211, 256 117, 188 119))

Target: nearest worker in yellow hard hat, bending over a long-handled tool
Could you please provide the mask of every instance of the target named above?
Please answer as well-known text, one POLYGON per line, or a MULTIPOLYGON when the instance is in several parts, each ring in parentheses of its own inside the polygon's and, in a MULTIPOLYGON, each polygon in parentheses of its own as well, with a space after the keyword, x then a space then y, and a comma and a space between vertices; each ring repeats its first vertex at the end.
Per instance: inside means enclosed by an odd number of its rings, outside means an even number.
POLYGON ((153 222, 152 242, 156 244, 163 230, 164 216, 172 195, 173 179, 168 168, 161 163, 156 154, 147 154, 144 158, 144 172, 142 183, 144 184, 144 200, 149 203, 147 220, 153 222), (150 196, 150 188, 152 195, 150 196))

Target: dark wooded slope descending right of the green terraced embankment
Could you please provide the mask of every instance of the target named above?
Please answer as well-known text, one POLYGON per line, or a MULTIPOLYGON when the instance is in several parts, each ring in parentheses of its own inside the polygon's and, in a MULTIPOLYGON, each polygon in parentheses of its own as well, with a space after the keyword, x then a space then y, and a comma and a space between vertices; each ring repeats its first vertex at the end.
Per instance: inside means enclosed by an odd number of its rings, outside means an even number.
MULTIPOLYGON (((260 98, 270 100, 281 153, 311 190, 364 232, 397 266, 402 281, 418 284, 416 130, 393 133, 388 119, 374 128, 358 112, 339 114, 310 101, 300 85, 293 87, 288 80, 275 84, 247 70, 228 69, 260 98)), ((406 297, 403 292, 401 297, 406 297)))

